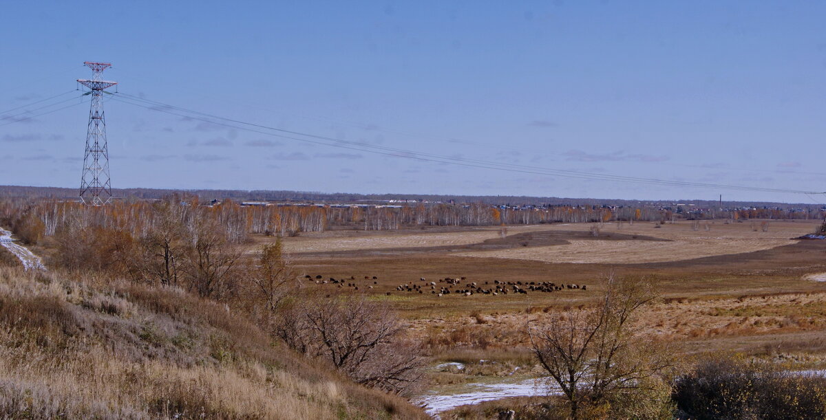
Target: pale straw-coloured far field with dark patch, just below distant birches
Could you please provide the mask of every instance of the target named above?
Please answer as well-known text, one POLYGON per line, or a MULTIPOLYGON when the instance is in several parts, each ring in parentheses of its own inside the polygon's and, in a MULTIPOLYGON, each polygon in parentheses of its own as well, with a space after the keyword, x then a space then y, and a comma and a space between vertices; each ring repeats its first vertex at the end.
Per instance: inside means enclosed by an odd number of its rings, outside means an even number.
POLYGON ((461 257, 512 258, 542 262, 618 263, 691 260, 762 251, 796 243, 793 238, 811 233, 805 221, 770 222, 763 232, 754 222, 708 222, 699 230, 690 222, 677 224, 606 223, 598 236, 589 232, 595 224, 547 224, 509 227, 507 238, 499 228, 440 229, 433 233, 358 230, 310 234, 289 238, 285 250, 292 253, 334 253, 404 250, 449 251, 461 257), (705 228, 709 230, 705 230, 705 228), (657 228, 654 230, 653 228, 657 228), (446 232, 441 230, 447 230, 446 232), (585 238, 583 238, 583 235, 585 238), (553 237, 556 241, 550 241, 553 237), (621 242, 618 242, 619 241, 621 242), (511 246, 507 246, 510 244, 511 246), (461 252, 464 248, 487 248, 461 252))

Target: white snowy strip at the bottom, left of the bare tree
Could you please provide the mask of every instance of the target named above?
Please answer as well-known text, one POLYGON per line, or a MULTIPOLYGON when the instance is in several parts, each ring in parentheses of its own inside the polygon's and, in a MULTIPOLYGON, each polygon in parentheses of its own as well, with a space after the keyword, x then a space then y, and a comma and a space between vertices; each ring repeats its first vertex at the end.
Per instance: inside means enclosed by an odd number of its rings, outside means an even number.
POLYGON ((495 384, 470 384, 474 390, 461 394, 426 394, 413 402, 425 407, 425 411, 439 418, 439 413, 467 404, 477 404, 509 397, 534 397, 555 394, 558 389, 552 387, 544 378, 522 380, 520 382, 500 382, 495 384))

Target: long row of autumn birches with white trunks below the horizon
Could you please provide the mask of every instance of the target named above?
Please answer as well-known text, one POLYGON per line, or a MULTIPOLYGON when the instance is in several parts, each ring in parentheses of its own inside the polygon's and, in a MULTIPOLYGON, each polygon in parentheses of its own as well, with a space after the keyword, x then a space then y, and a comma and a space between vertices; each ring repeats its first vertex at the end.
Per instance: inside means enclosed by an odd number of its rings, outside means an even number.
POLYGON ((240 205, 222 201, 202 203, 196 195, 173 194, 160 201, 116 201, 90 207, 55 199, 0 199, 0 224, 26 243, 38 243, 66 229, 118 229, 133 236, 145 234, 161 207, 214 220, 231 243, 244 243, 249 234, 296 236, 329 229, 395 230, 427 226, 499 226, 548 223, 673 222, 677 219, 742 221, 747 219, 823 219, 824 212, 748 209, 715 212, 675 212, 653 207, 557 205, 533 209, 470 205, 407 203, 400 206, 240 205))

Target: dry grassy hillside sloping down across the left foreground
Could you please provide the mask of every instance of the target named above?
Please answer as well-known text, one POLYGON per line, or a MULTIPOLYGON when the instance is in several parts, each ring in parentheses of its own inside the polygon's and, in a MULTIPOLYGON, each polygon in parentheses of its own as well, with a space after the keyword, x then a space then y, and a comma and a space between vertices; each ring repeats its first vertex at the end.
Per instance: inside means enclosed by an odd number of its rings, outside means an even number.
POLYGON ((426 418, 180 290, 0 267, 2 418, 426 418))

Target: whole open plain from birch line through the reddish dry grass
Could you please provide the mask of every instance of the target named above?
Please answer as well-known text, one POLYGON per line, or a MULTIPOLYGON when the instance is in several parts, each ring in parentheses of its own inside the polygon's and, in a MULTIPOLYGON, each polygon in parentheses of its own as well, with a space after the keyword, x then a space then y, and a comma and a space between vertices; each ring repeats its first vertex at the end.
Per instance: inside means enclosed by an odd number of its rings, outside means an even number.
POLYGON ((772 337, 802 337, 805 343, 797 347, 826 348, 822 340, 805 339, 826 328, 826 281, 819 281, 826 272, 826 243, 795 239, 818 224, 771 220, 767 231, 762 221, 715 220, 699 229, 689 221, 604 224, 596 237, 592 224, 508 227, 504 238, 499 228, 339 230, 284 243, 296 266, 313 277, 303 281, 306 287, 387 301, 413 331, 435 341, 450 342, 453 333, 462 342, 464 329, 484 337, 482 344, 468 340, 468 347, 524 345, 519 332, 527 319, 592 304, 605 276, 615 273, 659 279, 665 299, 647 309, 650 333, 684 342, 686 351, 713 342, 714 348, 752 352, 765 350, 776 341, 772 337), (431 293, 445 286, 438 281, 446 277, 466 277, 461 283, 482 287, 553 281, 588 288, 496 296, 431 293), (330 278, 346 281, 333 284, 330 278), (396 290, 400 285, 420 286, 422 293, 396 290))

